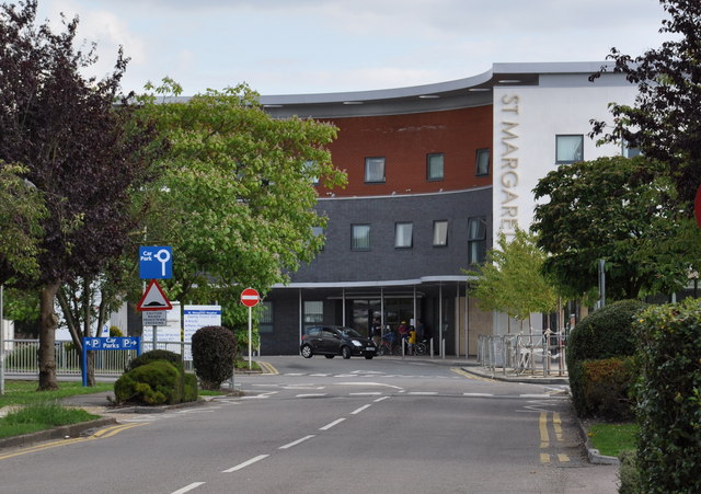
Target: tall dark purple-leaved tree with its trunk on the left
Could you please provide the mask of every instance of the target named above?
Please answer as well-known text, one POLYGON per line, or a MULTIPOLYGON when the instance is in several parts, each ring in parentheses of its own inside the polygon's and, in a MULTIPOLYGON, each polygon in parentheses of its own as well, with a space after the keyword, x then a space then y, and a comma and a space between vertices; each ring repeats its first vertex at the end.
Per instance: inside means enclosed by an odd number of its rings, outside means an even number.
MULTIPOLYGON (((38 277, 3 259, 0 282, 41 289, 39 390, 55 389, 56 294, 76 277, 92 279, 119 256, 136 220, 130 192, 148 182, 149 128, 135 128, 133 107, 115 108, 127 60, 85 79, 92 51, 74 48, 78 19, 54 33, 37 26, 36 0, 0 7, 0 160, 26 168, 47 215, 38 242, 38 277)), ((4 165, 3 165, 4 166, 4 165)), ((81 341, 77 341, 80 348, 81 341)))

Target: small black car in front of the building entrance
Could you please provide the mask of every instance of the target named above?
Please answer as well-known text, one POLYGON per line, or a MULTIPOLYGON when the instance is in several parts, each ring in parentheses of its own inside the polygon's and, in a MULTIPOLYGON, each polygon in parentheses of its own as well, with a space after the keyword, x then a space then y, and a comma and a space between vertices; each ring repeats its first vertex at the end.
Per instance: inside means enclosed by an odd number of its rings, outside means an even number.
POLYGON ((326 358, 333 358, 336 355, 343 358, 363 355, 369 360, 375 357, 377 347, 372 340, 360 336, 350 328, 312 326, 308 328, 302 335, 300 352, 304 358, 311 358, 314 355, 324 355, 326 358))

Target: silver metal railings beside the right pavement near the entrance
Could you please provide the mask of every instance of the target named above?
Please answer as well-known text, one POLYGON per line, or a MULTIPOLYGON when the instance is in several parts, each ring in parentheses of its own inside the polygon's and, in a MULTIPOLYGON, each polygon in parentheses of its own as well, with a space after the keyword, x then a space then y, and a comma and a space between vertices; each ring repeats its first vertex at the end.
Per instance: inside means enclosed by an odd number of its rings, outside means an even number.
POLYGON ((566 336, 561 333, 480 335, 478 363, 493 374, 566 376, 566 336))

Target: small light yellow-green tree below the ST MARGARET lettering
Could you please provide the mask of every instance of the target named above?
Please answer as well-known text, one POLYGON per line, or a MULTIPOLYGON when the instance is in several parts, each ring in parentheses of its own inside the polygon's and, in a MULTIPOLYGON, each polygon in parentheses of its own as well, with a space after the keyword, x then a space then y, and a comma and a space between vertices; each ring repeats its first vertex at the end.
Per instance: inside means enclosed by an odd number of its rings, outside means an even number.
POLYGON ((486 262, 479 268, 480 277, 471 288, 480 307, 506 312, 509 318, 519 319, 521 328, 531 313, 553 311, 558 296, 541 273, 545 254, 537 246, 535 235, 517 229, 508 241, 499 232, 497 244, 487 252, 486 262))

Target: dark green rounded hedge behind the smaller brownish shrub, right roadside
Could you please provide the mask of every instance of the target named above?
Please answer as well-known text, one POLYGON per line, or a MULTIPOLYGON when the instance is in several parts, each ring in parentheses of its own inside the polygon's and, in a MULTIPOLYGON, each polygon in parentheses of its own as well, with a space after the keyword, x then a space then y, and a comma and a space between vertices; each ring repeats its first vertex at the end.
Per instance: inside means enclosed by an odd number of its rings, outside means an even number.
POLYGON ((585 360, 630 357, 635 353, 633 321, 647 305, 639 300, 620 300, 589 314, 577 324, 567 341, 567 374, 572 402, 579 416, 588 416, 584 392, 585 360))

